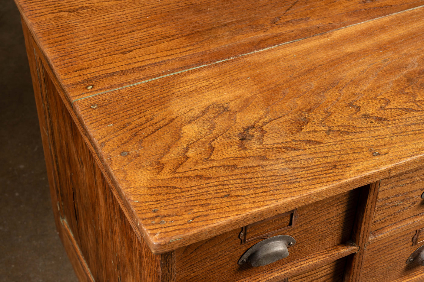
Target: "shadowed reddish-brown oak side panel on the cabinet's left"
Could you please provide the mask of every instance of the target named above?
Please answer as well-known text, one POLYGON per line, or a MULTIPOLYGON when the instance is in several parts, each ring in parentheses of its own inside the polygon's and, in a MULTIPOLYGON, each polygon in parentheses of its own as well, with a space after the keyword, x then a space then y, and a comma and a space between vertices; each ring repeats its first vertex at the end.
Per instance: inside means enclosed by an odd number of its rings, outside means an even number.
POLYGON ((23 29, 56 226, 78 279, 172 281, 172 254, 154 255, 138 239, 23 29))

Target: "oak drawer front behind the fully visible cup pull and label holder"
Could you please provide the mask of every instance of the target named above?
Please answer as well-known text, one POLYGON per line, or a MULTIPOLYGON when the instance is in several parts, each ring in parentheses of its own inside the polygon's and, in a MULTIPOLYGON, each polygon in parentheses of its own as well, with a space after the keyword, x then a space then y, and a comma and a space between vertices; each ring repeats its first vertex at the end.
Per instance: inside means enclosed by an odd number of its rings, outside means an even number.
MULTIPOLYGON (((360 189, 355 189, 298 207, 296 226, 282 232, 295 238, 296 244, 289 248, 288 257, 269 265, 252 267, 250 263, 237 264, 247 249, 262 240, 241 244, 241 228, 178 249, 177 281, 279 282, 357 252, 356 246, 346 246, 346 243, 351 239, 359 192, 360 189)), ((279 227, 277 224, 275 228, 279 227)), ((268 232, 269 228, 264 230, 268 232)))

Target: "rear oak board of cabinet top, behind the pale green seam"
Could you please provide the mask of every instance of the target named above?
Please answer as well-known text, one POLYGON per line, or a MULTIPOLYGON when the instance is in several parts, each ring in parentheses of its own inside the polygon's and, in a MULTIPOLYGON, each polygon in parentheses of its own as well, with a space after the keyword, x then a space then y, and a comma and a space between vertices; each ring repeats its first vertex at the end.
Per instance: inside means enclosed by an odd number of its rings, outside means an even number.
POLYGON ((424 4, 423 0, 15 2, 69 102, 424 4))

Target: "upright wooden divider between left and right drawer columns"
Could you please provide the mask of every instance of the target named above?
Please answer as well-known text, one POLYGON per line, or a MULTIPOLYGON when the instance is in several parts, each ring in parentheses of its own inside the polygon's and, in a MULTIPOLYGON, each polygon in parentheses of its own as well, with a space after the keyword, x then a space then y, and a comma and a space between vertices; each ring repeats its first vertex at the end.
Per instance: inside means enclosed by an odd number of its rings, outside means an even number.
POLYGON ((377 204, 380 181, 362 188, 359 207, 357 209, 352 240, 359 247, 359 252, 348 258, 343 282, 358 282, 365 256, 365 246, 371 231, 374 210, 377 204))

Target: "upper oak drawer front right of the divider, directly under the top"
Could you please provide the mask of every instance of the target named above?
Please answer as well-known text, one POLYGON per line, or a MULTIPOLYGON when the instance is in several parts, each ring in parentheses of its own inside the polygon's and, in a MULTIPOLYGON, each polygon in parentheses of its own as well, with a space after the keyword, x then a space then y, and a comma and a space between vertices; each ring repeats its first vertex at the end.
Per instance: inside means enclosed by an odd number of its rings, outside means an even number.
POLYGON ((371 232, 379 236, 424 218, 424 168, 381 181, 371 232))

